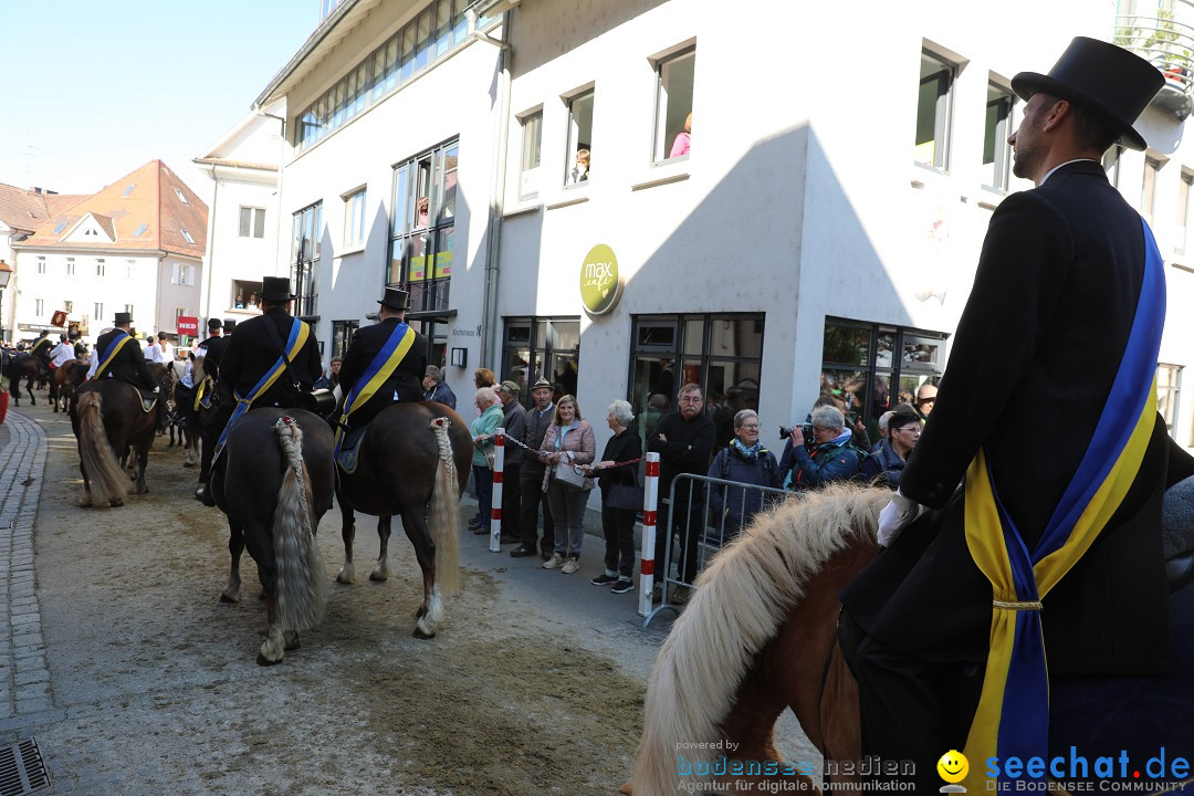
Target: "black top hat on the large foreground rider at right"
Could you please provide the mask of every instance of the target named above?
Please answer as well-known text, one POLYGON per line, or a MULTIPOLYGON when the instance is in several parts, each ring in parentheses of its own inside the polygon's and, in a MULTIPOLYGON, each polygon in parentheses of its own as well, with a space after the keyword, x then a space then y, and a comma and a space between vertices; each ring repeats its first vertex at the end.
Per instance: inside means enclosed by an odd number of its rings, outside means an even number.
POLYGON ((1144 58, 1114 44, 1076 36, 1047 75, 1021 72, 1011 79, 1011 90, 1026 101, 1045 93, 1077 103, 1114 124, 1125 147, 1145 149, 1147 143, 1132 124, 1164 84, 1161 70, 1144 58))

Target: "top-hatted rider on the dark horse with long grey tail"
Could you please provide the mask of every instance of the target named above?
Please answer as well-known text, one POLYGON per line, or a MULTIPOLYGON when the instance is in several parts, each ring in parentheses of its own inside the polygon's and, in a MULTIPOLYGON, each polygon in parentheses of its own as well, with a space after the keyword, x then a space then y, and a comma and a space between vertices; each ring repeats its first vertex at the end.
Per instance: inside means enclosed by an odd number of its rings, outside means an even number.
POLYGON ((203 453, 195 499, 205 506, 215 505, 208 492, 211 462, 234 415, 267 406, 304 408, 310 401, 312 384, 322 368, 310 327, 290 316, 294 297, 288 278, 263 277, 261 314, 239 325, 228 338, 220 363, 223 400, 201 431, 203 453))

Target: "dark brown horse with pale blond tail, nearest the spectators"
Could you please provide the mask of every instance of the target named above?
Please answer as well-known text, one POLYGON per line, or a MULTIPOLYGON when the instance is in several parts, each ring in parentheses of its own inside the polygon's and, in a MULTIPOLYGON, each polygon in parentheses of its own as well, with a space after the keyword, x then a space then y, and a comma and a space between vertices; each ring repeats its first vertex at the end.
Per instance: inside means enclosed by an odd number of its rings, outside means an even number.
POLYGON ((395 403, 365 430, 355 471, 340 470, 336 498, 344 519, 344 566, 337 580, 353 580, 355 511, 378 518, 381 555, 369 575, 373 580, 389 578, 390 520, 401 517, 423 569, 423 604, 414 627, 419 638, 436 635, 443 619, 441 586, 448 594, 457 590, 456 504, 466 481, 457 474, 468 471, 472 451, 468 426, 453 409, 433 402, 395 403))

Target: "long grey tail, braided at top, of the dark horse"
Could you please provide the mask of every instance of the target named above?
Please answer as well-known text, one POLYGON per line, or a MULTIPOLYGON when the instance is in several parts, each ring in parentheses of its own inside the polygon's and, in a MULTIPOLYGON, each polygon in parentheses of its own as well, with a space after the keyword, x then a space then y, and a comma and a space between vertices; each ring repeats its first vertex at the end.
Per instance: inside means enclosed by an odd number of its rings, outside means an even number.
POLYGON ((273 425, 285 473, 273 511, 273 559, 278 629, 298 631, 324 618, 327 586, 324 557, 315 543, 315 520, 307 465, 302 461, 302 428, 291 418, 273 425))

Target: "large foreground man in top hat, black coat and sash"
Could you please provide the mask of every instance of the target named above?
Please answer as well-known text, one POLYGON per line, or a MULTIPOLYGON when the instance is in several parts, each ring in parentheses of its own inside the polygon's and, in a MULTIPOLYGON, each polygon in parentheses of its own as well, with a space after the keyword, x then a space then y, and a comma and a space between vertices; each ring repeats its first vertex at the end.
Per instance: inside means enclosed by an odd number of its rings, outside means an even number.
POLYGON ((1011 81, 1027 100, 1009 138, 1014 172, 1036 187, 991 216, 933 420, 880 514, 887 549, 841 594, 863 753, 912 760, 917 792, 941 784, 935 764, 948 749, 966 748, 980 777, 987 754, 1047 758, 1041 637, 1051 679, 1168 667, 1159 504, 1167 467, 1176 482, 1194 464, 1170 458, 1150 394, 1159 253, 1101 165, 1116 141, 1145 148, 1132 125, 1162 82, 1147 62, 1089 38, 1048 75, 1011 81), (1133 332, 1138 317, 1147 334, 1133 332), (1139 363, 1132 380, 1119 380, 1121 362, 1139 363), (1085 489, 1113 476, 1091 463, 1122 465, 1120 492, 1094 522, 1085 489), (1034 575, 1051 550, 1072 566, 1034 575), (1021 586, 1003 582, 1009 570, 1021 586), (1017 623, 1038 646, 999 666, 1013 649, 1002 629, 1017 623), (997 685, 984 686, 985 669, 997 685), (1032 698, 999 715, 1004 693, 1032 698), (1002 746, 1009 738, 1022 746, 1002 746))

